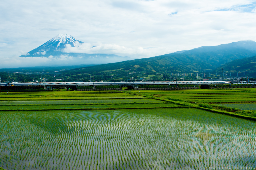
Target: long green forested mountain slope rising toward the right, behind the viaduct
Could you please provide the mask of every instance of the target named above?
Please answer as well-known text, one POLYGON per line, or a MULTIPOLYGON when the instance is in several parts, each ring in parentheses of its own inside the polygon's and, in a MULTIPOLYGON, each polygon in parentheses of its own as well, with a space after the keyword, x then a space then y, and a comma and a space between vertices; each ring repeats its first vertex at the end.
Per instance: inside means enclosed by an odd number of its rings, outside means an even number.
MULTIPOLYGON (((162 56, 90 66, 86 70, 93 72, 113 70, 115 68, 115 70, 130 70, 133 72, 214 71, 225 63, 228 65, 228 62, 233 60, 255 55, 256 42, 239 41, 218 46, 203 46, 191 50, 177 51, 162 56)), ((77 68, 74 71, 80 72, 82 69, 77 68)))

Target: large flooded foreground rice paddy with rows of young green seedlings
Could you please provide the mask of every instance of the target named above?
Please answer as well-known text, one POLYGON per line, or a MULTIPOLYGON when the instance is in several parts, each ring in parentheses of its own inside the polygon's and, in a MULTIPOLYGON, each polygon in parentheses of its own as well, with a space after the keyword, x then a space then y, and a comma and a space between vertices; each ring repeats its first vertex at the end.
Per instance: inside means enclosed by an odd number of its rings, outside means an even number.
POLYGON ((197 109, 0 112, 5 169, 256 166, 255 122, 197 109))

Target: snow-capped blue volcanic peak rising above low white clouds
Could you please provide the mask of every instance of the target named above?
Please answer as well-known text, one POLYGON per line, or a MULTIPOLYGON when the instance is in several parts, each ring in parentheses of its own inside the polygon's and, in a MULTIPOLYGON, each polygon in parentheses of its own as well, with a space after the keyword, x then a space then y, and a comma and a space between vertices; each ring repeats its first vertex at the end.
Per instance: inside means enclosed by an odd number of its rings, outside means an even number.
MULTIPOLYGON (((54 59, 56 61, 55 65, 104 64, 135 59, 127 56, 121 57, 114 54, 86 54, 65 52, 65 48, 67 46, 75 47, 76 44, 83 44, 83 42, 77 40, 71 35, 59 34, 43 45, 29 51, 27 55, 22 55, 20 57, 46 57, 51 60, 54 59), (65 59, 68 60, 68 63, 63 61, 65 59)), ((92 46, 91 48, 94 47, 95 46, 92 46)))

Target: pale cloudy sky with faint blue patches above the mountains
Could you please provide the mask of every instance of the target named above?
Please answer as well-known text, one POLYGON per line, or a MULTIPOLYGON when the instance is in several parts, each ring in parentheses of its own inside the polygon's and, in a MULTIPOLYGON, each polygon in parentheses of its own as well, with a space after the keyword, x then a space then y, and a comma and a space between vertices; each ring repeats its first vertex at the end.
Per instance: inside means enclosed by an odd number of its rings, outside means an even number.
POLYGON ((256 41, 255 7, 250 0, 3 1, 0 68, 40 65, 46 59, 18 56, 59 33, 96 45, 97 53, 136 58, 256 41))

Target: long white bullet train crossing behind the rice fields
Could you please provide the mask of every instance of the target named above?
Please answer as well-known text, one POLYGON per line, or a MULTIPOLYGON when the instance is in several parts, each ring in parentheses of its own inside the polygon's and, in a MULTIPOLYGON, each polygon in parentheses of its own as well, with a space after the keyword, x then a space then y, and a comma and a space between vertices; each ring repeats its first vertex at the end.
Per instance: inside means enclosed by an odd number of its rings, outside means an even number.
POLYGON ((41 83, 2 83, 1 86, 86 86, 86 85, 178 85, 178 84, 229 84, 225 81, 177 81, 177 82, 41 82, 41 83))

